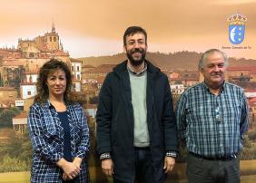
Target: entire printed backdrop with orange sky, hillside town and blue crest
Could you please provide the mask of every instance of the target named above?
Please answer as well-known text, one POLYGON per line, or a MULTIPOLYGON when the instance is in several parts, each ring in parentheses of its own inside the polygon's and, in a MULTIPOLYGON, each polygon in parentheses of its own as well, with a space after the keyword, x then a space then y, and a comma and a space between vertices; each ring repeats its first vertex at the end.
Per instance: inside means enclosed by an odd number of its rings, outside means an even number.
MULTIPOLYGON (((198 62, 217 48, 227 53, 225 80, 241 86, 250 124, 240 155, 241 182, 256 178, 256 0, 9 0, 0 6, 0 183, 30 181, 32 148, 27 114, 40 67, 64 61, 73 75, 73 97, 90 128, 91 182, 112 182, 100 168, 95 114, 104 78, 123 62, 123 33, 132 25, 148 34, 146 58, 169 79, 173 106, 182 92, 202 82, 198 62)), ((187 182, 187 149, 166 182, 187 182)))

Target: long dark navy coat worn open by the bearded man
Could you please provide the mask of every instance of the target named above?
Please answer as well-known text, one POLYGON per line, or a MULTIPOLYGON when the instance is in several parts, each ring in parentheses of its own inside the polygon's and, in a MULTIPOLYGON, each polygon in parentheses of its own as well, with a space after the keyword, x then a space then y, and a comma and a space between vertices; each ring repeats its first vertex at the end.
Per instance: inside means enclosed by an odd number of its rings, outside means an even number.
MULTIPOLYGON (((167 150, 177 151, 176 123, 167 76, 147 62, 147 123, 155 182, 163 182, 167 150)), ((114 178, 134 182, 133 104, 127 61, 107 74, 99 95, 97 150, 110 152, 114 178)))

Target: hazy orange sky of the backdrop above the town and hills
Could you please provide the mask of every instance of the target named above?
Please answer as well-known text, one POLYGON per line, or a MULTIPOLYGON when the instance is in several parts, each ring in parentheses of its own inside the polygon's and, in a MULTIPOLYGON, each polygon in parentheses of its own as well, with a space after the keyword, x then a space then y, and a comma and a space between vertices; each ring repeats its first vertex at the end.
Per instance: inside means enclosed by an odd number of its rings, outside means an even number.
POLYGON ((4 0, 0 47, 51 32, 54 22, 71 57, 111 55, 123 52, 125 29, 140 25, 151 52, 219 48, 229 56, 256 59, 255 10, 256 0, 4 0), (234 45, 227 18, 237 13, 246 15, 247 23, 243 42, 234 45))

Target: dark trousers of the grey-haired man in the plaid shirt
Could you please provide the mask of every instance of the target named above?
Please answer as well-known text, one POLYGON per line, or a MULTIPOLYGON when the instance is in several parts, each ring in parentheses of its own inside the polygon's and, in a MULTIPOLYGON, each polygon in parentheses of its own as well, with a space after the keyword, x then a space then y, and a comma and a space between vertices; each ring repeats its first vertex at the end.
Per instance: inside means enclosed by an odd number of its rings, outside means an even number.
POLYGON ((187 159, 189 183, 240 183, 239 159, 187 159))

